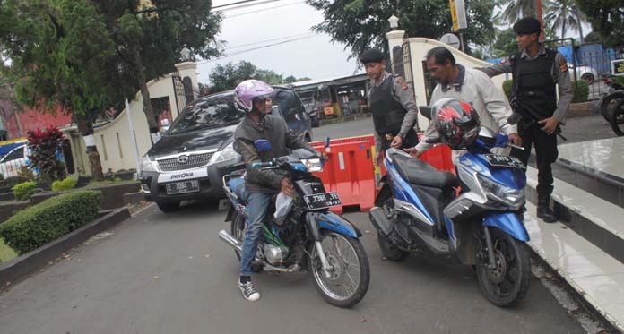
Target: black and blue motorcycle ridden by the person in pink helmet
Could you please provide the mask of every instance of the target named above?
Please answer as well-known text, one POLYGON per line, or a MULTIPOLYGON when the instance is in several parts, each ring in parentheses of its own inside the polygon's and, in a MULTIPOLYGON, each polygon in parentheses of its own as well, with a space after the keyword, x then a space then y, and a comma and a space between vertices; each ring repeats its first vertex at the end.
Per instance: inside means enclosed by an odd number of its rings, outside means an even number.
MULTIPOLYGON (((325 141, 325 146, 329 141, 325 141)), ((271 150, 269 141, 256 141, 259 151, 271 150)), ((272 168, 287 175, 295 188, 290 205, 269 207, 258 243, 254 271, 298 272, 308 270, 316 290, 325 301, 339 307, 358 304, 366 295, 370 281, 368 256, 360 242, 360 230, 329 210, 340 205, 337 193, 326 193, 321 180, 312 175, 321 171, 323 159, 309 150, 293 150, 289 156, 257 163, 256 168, 272 168), (274 212, 287 212, 285 216, 274 212)), ((247 228, 246 195, 243 175, 223 176, 223 189, 232 206, 226 221, 231 233, 219 232, 223 242, 234 248, 240 260, 243 236, 247 228)), ((272 201, 274 203, 274 201, 272 201)))

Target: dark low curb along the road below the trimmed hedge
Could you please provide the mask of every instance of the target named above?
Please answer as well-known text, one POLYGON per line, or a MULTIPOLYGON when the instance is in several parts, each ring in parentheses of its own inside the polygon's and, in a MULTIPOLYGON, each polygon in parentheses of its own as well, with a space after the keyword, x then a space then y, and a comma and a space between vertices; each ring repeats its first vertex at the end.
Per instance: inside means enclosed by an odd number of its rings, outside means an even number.
POLYGON ((63 255, 63 253, 82 244, 82 242, 86 241, 91 236, 95 236, 110 227, 116 226, 127 218, 130 218, 130 211, 126 207, 100 212, 105 213, 104 216, 34 251, 2 263, 0 265, 0 287, 12 285, 13 282, 45 267, 50 261, 54 261, 59 256, 63 255))

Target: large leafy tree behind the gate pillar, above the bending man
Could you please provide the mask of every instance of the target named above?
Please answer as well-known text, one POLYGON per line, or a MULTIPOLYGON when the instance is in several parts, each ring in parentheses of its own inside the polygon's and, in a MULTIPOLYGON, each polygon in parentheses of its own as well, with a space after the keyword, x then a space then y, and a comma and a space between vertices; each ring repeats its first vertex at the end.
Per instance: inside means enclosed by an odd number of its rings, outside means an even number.
MULTIPOLYGON (((393 14, 400 18, 400 28, 412 37, 438 39, 453 26, 447 0, 412 0, 400 5, 379 0, 306 0, 306 3, 324 15, 324 21, 313 30, 346 44, 351 48, 351 57, 370 47, 388 53, 385 33, 390 30, 387 19, 393 14)), ((466 2, 468 28, 463 31, 466 45, 485 45, 494 39, 491 21, 494 5, 493 0, 466 2)))

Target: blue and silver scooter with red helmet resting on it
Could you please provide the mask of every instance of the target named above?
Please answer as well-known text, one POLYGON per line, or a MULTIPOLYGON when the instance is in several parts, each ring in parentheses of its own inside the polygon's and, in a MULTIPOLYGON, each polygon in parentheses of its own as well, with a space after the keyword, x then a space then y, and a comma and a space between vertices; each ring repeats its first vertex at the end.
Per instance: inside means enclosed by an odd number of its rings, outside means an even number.
MULTIPOLYGON (((420 111, 430 119, 429 107, 420 111)), ((514 114, 507 123, 519 119, 514 114)), ((531 279, 525 167, 518 158, 490 153, 507 146, 513 145, 506 135, 481 127, 479 139, 459 158, 458 177, 403 150, 386 150, 387 174, 369 213, 386 259, 402 261, 415 252, 472 265, 491 303, 520 302, 531 279)))

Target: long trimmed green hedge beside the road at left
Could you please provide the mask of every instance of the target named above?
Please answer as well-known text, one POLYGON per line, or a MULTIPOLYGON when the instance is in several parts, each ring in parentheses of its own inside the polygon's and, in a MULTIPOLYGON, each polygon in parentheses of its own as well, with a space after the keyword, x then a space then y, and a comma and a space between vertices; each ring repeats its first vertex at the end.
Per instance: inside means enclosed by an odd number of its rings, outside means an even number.
POLYGON ((65 236, 98 217, 101 193, 64 193, 22 210, 0 225, 0 236, 19 254, 65 236))

